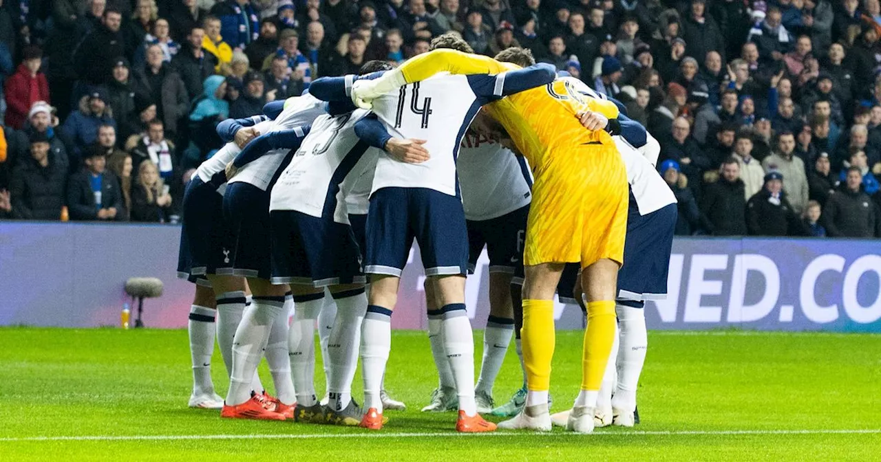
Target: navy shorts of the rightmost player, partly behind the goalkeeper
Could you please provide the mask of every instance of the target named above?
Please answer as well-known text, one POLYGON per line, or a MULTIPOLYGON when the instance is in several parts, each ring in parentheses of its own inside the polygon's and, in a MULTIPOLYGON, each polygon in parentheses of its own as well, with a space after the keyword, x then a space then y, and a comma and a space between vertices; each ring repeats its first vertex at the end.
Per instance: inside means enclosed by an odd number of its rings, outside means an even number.
MULTIPOLYGON (((647 215, 640 216, 634 211, 627 216, 624 265, 618 270, 618 300, 644 302, 667 297, 676 219, 676 204, 647 215)), ((560 302, 575 303, 572 291, 577 277, 578 264, 566 263, 557 285, 560 302)))

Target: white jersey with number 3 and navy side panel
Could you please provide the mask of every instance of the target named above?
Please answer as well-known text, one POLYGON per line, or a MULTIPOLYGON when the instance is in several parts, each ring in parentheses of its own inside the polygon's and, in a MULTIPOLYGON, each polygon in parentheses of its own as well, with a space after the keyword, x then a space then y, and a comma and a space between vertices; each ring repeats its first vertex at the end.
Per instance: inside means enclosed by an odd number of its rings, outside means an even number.
POLYGON ((316 217, 333 214, 335 222, 348 224, 345 197, 358 180, 357 172, 375 158, 368 152, 372 148, 355 134, 355 123, 367 114, 358 109, 315 119, 272 187, 270 210, 296 210, 316 217))

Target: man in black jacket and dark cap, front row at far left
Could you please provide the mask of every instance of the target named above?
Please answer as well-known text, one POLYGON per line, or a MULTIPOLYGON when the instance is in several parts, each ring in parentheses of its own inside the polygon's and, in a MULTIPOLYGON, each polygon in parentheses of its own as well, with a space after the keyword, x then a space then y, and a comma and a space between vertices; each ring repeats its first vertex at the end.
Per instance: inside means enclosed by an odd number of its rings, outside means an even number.
POLYGON ((25 220, 61 219, 64 205, 64 180, 67 170, 49 156, 45 133, 34 132, 30 139, 30 157, 22 159, 10 180, 11 213, 25 220))

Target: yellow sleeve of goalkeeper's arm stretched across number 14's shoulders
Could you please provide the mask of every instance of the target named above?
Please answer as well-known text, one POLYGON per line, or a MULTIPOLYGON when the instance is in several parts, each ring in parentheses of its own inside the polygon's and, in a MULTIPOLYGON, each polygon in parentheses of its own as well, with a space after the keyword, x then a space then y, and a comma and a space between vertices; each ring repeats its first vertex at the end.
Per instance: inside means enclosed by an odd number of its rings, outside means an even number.
POLYGON ((425 80, 439 72, 450 74, 500 74, 520 69, 510 62, 498 62, 491 57, 471 55, 449 48, 438 48, 412 57, 398 68, 408 84, 425 80))

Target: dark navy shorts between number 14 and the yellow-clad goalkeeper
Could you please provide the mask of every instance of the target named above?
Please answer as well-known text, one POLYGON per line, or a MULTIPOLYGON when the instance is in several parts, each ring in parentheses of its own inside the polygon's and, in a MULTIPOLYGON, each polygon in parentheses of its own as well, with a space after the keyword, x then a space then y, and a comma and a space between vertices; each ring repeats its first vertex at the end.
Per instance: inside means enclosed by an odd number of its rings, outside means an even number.
POLYGON ((529 205, 489 220, 468 220, 468 271, 474 272, 480 252, 486 246, 490 273, 514 275, 523 266, 523 239, 529 205))

